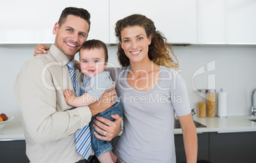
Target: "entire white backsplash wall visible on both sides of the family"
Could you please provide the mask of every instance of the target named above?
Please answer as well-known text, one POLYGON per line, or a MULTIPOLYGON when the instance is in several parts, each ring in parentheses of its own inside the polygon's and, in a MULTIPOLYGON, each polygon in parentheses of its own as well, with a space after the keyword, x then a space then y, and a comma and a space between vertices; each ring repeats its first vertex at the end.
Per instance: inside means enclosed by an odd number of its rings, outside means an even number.
MULTIPOLYGON (((208 88, 208 75, 215 74, 216 90, 223 88, 228 95, 227 115, 248 115, 251 93, 256 88, 255 46, 174 46, 180 63, 182 77, 187 81, 188 96, 192 108, 197 108, 201 97, 192 88, 192 76, 196 70, 215 60, 216 69, 194 78, 197 89, 208 88)), ((118 66, 117 47, 108 47, 110 63, 118 66)), ((15 77, 24 62, 33 56, 34 46, 0 46, 0 112, 19 117, 20 110, 13 95, 15 77)), ((256 98, 255 98, 256 101, 256 98)), ((255 102, 256 105, 256 102, 255 102)))

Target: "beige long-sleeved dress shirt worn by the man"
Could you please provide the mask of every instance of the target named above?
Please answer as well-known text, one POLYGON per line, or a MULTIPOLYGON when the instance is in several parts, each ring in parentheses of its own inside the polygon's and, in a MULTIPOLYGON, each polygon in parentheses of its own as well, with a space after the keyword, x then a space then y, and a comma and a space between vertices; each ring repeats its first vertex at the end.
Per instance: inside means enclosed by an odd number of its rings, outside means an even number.
MULTIPOLYGON (((71 163, 82 159, 76 152, 75 132, 89 124, 92 114, 89 107, 73 108, 64 100, 63 89, 75 93, 68 62, 52 44, 46 55, 37 55, 24 63, 15 81, 26 153, 32 163, 71 163)), ((76 70, 76 77, 81 81, 83 75, 76 70)))

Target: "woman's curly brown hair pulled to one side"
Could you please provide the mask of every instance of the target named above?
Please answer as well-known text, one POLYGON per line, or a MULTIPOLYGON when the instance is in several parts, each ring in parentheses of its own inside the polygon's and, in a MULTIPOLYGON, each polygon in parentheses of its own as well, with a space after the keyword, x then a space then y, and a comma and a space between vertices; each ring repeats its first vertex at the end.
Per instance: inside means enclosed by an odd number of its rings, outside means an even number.
POLYGON ((168 68, 178 68, 178 60, 173 53, 173 48, 171 45, 167 44, 166 38, 162 36, 162 34, 155 29, 155 25, 152 20, 147 18, 144 15, 134 14, 123 18, 122 20, 118 20, 115 24, 115 36, 118 39, 118 50, 117 56, 118 61, 122 67, 126 67, 130 65, 129 58, 125 55, 124 50, 121 47, 120 42, 122 42, 121 31, 125 27, 132 27, 134 25, 138 25, 143 27, 146 31, 146 37, 152 36, 151 44, 148 46, 148 57, 157 65, 162 65, 168 68), (173 61, 169 54, 170 49, 173 54, 176 62, 173 61))

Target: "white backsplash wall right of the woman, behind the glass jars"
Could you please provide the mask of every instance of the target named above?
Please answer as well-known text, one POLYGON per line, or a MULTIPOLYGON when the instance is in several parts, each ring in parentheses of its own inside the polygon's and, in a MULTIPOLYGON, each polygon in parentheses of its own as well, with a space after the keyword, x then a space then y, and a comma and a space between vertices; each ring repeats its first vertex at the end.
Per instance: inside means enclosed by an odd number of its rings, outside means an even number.
POLYGON ((199 89, 207 88, 208 75, 215 74, 217 93, 220 88, 227 91, 227 115, 250 114, 251 94, 256 88, 255 46, 187 46, 175 47, 174 50, 187 81, 192 108, 197 108, 196 103, 201 100, 192 88, 192 75, 201 66, 215 60, 216 70, 206 70, 205 74, 195 77, 194 85, 199 89))

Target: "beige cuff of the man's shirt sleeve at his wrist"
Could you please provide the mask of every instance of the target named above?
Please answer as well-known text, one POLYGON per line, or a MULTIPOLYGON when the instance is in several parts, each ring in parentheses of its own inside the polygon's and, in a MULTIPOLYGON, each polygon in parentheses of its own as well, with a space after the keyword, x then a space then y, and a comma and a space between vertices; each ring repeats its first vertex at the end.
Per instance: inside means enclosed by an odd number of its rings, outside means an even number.
POLYGON ((76 108, 76 111, 80 115, 81 118, 81 127, 86 126, 89 124, 90 120, 92 119, 92 112, 90 112, 89 107, 78 107, 76 108))

